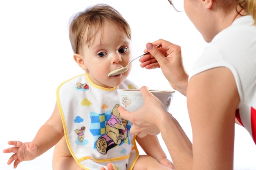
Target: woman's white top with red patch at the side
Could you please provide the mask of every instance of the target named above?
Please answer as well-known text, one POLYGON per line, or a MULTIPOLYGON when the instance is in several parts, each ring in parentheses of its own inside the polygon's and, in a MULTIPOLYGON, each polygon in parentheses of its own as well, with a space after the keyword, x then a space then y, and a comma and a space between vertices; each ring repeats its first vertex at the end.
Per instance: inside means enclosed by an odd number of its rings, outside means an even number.
POLYGON ((236 19, 207 44, 189 78, 208 69, 227 67, 236 80, 240 103, 236 118, 256 143, 256 26, 252 16, 236 19))

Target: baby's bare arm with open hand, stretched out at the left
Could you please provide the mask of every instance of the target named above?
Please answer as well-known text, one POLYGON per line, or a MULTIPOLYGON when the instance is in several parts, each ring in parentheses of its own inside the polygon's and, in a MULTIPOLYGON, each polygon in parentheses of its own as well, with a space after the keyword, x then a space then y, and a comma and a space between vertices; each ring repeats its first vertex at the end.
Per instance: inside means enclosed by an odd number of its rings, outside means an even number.
POLYGON ((38 130, 31 143, 20 141, 9 141, 11 148, 3 150, 4 153, 14 153, 8 160, 10 165, 13 161, 13 168, 16 168, 22 161, 28 161, 40 156, 52 146, 54 146, 64 135, 61 116, 57 104, 55 105, 52 116, 38 130))

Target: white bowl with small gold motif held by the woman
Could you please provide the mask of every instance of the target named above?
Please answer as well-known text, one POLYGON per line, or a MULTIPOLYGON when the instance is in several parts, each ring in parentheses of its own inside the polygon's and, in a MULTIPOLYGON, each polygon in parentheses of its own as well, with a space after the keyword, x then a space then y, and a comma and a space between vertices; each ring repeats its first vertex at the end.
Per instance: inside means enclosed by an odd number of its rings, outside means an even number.
MULTIPOLYGON (((149 91, 162 102, 165 110, 168 111, 175 91, 153 89, 149 91)), ((139 89, 117 89, 117 93, 119 96, 120 105, 129 112, 139 110, 144 103, 139 89)))

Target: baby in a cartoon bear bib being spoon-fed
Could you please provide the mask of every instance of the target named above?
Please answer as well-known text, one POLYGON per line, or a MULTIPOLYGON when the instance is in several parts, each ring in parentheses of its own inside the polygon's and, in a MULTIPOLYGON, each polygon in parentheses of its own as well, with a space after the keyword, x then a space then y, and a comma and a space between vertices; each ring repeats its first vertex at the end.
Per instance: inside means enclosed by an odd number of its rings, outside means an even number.
POLYGON ((137 88, 126 79, 128 71, 108 73, 131 60, 131 29, 118 11, 97 4, 77 13, 70 24, 74 60, 85 71, 62 83, 52 116, 33 141, 9 141, 14 168, 56 145, 53 170, 100 170, 109 162, 117 170, 170 170, 171 161, 157 136, 139 138, 130 134, 131 123, 120 117, 116 89, 137 88), (135 139, 147 155, 139 155, 135 139), (146 168, 145 168, 146 167, 146 168))

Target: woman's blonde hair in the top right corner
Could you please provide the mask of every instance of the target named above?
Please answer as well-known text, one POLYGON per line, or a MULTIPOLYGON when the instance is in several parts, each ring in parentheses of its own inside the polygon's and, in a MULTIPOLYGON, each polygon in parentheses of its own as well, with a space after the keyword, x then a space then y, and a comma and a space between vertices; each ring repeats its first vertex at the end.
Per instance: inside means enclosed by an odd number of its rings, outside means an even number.
POLYGON ((256 25, 256 0, 238 0, 238 4, 254 19, 256 25))

